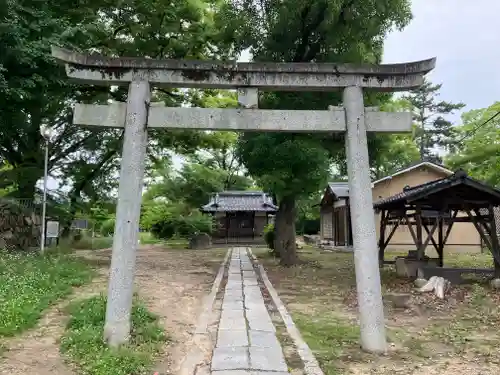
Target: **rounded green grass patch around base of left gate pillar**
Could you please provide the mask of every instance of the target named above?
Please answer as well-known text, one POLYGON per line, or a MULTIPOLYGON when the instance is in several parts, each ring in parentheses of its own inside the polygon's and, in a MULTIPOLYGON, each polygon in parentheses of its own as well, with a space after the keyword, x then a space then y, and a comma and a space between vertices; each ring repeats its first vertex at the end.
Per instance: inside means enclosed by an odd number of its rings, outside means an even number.
POLYGON ((151 368, 167 336, 157 316, 134 301, 130 342, 110 349, 103 342, 106 297, 77 301, 68 308, 70 320, 61 340, 61 351, 85 375, 153 373, 151 368))

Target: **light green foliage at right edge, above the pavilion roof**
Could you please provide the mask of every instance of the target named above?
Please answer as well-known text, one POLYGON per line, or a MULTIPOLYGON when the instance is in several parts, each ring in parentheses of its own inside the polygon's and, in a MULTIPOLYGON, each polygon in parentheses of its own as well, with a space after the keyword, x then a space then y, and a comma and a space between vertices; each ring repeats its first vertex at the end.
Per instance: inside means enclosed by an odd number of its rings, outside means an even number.
POLYGON ((451 168, 463 168, 471 177, 496 187, 500 187, 499 112, 500 102, 496 102, 488 108, 464 113, 462 125, 456 128, 457 137, 463 142, 446 159, 451 168))

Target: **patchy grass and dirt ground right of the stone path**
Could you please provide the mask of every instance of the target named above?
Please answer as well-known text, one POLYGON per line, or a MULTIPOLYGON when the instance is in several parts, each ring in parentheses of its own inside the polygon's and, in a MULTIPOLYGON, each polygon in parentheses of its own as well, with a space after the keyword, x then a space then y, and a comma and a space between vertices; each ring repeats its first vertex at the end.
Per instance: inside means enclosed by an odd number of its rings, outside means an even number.
MULTIPOLYGON (((500 373, 500 292, 487 283, 453 286, 442 301, 432 293, 414 292, 409 280, 386 266, 381 272, 383 293, 410 293, 411 306, 395 309, 385 303, 390 350, 376 356, 359 348, 352 254, 307 248, 299 250, 300 265, 285 269, 267 249, 253 251, 326 375, 500 373), (437 367, 444 372, 430 372, 437 367)), ((399 254, 387 258, 393 255, 399 254)), ((445 263, 493 265, 487 254, 446 254, 445 263)))

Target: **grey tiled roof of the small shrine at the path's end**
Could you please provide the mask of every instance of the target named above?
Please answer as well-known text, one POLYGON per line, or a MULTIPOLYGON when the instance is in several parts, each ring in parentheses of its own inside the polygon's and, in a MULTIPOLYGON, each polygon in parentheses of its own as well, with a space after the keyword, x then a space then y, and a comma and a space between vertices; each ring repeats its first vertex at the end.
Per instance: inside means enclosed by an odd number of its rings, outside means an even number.
POLYGON ((215 194, 201 209, 206 212, 275 212, 278 207, 273 204, 271 197, 262 191, 223 191, 215 194))

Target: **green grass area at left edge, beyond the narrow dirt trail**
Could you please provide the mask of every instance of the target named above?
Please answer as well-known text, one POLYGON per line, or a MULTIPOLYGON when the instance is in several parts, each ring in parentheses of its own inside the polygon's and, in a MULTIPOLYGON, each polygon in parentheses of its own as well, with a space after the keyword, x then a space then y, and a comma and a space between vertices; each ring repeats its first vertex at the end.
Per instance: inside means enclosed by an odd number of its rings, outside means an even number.
POLYGON ((87 264, 68 255, 0 252, 0 337, 32 328, 45 309, 92 276, 87 264))

